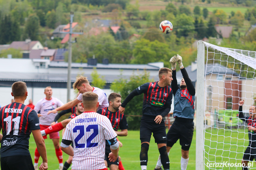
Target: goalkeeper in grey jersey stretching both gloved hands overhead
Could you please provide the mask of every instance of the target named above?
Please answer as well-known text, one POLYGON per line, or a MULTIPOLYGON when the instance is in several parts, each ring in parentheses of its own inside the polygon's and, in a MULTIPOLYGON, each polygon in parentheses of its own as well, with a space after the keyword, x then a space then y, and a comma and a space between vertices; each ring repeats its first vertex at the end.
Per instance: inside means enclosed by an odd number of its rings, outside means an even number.
MULTIPOLYGON (((190 78, 188 77, 186 69, 182 64, 182 57, 177 54, 170 59, 172 77, 171 89, 174 95, 174 111, 173 116, 175 118, 174 123, 167 133, 167 153, 169 154, 171 147, 179 139, 179 144, 181 145, 181 170, 187 169, 188 163, 188 153, 190 144, 193 138, 194 132, 194 113, 195 113, 195 87, 193 86, 190 78), (180 82, 180 88, 177 84, 176 79, 176 62, 178 62, 180 71, 182 73, 183 79, 180 82)), ((162 169, 162 164, 160 162, 160 156, 156 164, 155 170, 162 169)))

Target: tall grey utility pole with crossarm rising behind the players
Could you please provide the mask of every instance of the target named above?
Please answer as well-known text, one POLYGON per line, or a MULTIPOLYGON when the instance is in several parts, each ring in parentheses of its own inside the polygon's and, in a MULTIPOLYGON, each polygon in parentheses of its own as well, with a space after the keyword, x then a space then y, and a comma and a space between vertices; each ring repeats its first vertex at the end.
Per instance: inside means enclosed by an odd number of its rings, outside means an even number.
POLYGON ((72 34, 80 34, 83 32, 74 33, 72 31, 72 23, 73 23, 74 12, 70 12, 70 22, 69 22, 69 32, 60 32, 62 34, 69 34, 69 60, 68 60, 68 82, 67 82, 67 102, 70 100, 70 89, 71 89, 71 59, 72 59, 72 43, 76 43, 77 40, 72 41, 72 34))

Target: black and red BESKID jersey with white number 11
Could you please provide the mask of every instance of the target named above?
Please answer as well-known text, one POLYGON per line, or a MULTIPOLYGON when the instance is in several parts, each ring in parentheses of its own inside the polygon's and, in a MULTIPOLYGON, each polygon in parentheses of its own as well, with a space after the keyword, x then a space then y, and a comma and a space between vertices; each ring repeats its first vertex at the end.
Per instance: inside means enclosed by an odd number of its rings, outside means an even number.
POLYGON ((36 111, 21 103, 11 103, 0 109, 3 138, 1 157, 30 155, 28 140, 31 130, 40 129, 36 111))

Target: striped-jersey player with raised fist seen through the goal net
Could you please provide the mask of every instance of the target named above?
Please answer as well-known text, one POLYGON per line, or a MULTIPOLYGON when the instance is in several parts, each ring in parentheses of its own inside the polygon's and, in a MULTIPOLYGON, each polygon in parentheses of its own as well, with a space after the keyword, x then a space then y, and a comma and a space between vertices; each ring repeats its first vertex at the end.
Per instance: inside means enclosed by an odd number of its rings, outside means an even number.
POLYGON ((248 128, 248 137, 249 137, 249 145, 244 151, 244 156, 242 159, 242 170, 248 170, 248 162, 253 161, 255 159, 256 161, 256 106, 250 106, 249 108, 249 115, 250 116, 244 116, 243 114, 243 101, 239 101, 239 114, 238 117, 247 123, 248 128))

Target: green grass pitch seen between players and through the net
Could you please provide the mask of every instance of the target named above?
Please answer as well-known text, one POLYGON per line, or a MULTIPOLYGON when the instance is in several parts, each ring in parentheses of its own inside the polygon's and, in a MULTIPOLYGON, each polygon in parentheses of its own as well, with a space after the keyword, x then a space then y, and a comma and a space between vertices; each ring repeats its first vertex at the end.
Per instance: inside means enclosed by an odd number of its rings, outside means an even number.
MULTIPOLYGON (((60 133, 61 135, 61 133, 60 133)), ((126 170, 139 170, 139 153, 140 153, 140 140, 139 131, 128 131, 127 137, 118 137, 123 143, 123 147, 120 148, 119 155, 121 156, 123 166, 126 170)), ((213 161, 221 163, 223 161, 228 161, 230 163, 240 163, 245 150, 244 146, 248 145, 248 135, 244 133, 243 129, 239 129, 238 132, 219 129, 219 130, 206 130, 205 134, 205 163, 207 161, 213 161), (211 135, 211 134, 212 135, 211 135), (229 144, 226 144, 229 143, 229 144), (218 155, 218 156, 214 156, 218 155)), ((58 160, 55 155, 55 149, 53 147, 53 142, 50 139, 45 140, 47 148, 47 158, 48 158, 48 169, 55 170, 58 169, 58 160)), ((34 162, 34 150, 36 144, 33 139, 33 135, 29 140, 29 150, 31 153, 32 161, 34 162)), ((181 147, 179 141, 171 149, 170 158, 170 169, 179 170, 180 169, 180 158, 181 158, 181 147)), ((147 169, 152 170, 155 167, 156 161, 158 159, 159 152, 157 145, 154 142, 154 138, 151 138, 150 148, 148 152, 148 165, 147 169)), ((67 160, 68 156, 63 153, 63 163, 67 160)), ((39 163, 42 159, 39 159, 39 163)), ((70 168, 71 169, 71 168, 70 168)), ((205 166, 205 169, 209 169, 205 166)), ((222 168, 221 168, 222 169, 222 168)), ((226 170, 229 168, 223 168, 226 170)), ((236 168, 233 168, 236 169, 236 168)), ((241 168, 238 168, 241 169, 241 168)), ((193 136, 193 141, 189 151, 189 163, 187 170, 195 170, 195 132, 193 136)))

